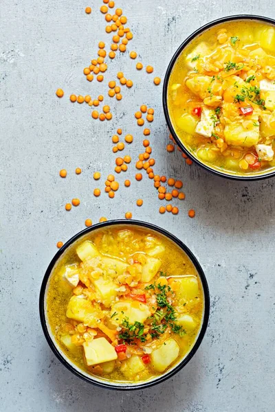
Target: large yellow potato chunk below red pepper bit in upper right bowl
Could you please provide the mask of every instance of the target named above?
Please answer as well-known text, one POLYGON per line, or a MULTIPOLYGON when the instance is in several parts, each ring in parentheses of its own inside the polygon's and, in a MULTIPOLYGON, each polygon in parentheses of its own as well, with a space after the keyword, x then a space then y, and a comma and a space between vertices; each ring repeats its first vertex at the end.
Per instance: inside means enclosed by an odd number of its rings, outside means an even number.
POLYGON ((246 129, 241 123, 227 124, 224 128, 224 136, 227 144, 233 144, 234 146, 243 146, 250 148, 259 141, 259 122, 258 117, 255 117, 252 128, 246 129))

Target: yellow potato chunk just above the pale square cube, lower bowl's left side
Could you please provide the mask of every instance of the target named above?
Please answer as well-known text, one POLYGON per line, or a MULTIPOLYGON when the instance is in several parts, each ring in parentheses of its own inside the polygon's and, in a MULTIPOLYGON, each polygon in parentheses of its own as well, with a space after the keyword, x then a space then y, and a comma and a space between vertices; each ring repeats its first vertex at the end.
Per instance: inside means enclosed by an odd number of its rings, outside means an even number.
POLYGON ((102 319, 103 314, 98 306, 91 304, 91 301, 85 299, 82 295, 72 296, 69 299, 66 315, 69 319, 83 322, 91 328, 96 328, 98 319, 102 319))

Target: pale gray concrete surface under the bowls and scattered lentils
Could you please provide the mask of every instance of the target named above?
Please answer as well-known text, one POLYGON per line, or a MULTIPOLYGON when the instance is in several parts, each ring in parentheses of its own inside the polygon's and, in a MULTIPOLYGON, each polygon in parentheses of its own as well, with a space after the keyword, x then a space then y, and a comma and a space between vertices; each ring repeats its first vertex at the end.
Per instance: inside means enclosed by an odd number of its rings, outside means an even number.
MULTIPOLYGON (((274 195, 275 180, 223 181, 196 165, 188 167, 179 152, 165 150, 168 133, 161 87, 135 70, 129 56, 115 58, 106 78, 118 70, 134 87, 123 89, 122 102, 108 100, 112 122, 96 122, 87 105, 70 104, 70 93, 99 91, 83 67, 96 56, 104 32, 101 1, 1 0, 0 135, 1 283, 0 410, 5 412, 272 412, 274 411, 274 195), (91 5, 93 12, 84 10, 91 5), (65 98, 55 91, 62 87, 65 98), (113 169, 111 135, 118 126, 135 137, 126 150, 142 148, 133 113, 140 104, 155 108, 151 141, 155 171, 183 179, 186 201, 178 216, 159 215, 152 182, 133 184, 111 201, 94 198, 96 170, 113 169), (83 168, 76 176, 74 169, 83 168), (67 179, 58 171, 68 170, 67 179), (72 197, 81 205, 69 213, 72 197), (144 206, 137 208, 137 198, 144 206), (188 209, 195 207, 191 220, 188 209), (211 316, 206 338, 177 376, 157 387, 132 393, 104 391, 73 376, 52 354, 39 322, 38 299, 56 241, 83 229, 85 218, 133 217, 172 231, 194 251, 206 271, 211 316)), ((274 17, 272 0, 147 1, 120 0, 134 39, 129 50, 162 76, 175 49, 197 27, 219 16, 254 13, 274 17)), ((125 175, 118 177, 121 183, 125 175)), ((104 188, 104 180, 100 181, 104 188)))

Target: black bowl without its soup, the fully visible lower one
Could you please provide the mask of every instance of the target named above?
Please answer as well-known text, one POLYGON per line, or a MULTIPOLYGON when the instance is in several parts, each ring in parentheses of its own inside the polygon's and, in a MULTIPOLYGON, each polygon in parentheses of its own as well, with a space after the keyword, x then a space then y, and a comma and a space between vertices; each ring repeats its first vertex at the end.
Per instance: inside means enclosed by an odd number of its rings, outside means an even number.
POLYGON ((151 225, 150 223, 146 222, 141 222, 138 220, 109 220, 107 222, 102 222, 98 223, 97 225, 94 225, 92 227, 89 227, 83 231, 80 231, 79 233, 76 234, 73 238, 67 241, 67 243, 64 244, 64 246, 56 253, 54 258, 52 259, 52 262, 50 262, 50 265, 47 268, 47 271, 45 273, 45 276, 43 278, 42 286, 41 286, 41 292, 39 296, 39 311, 40 311, 40 318, 41 318, 41 324, 43 328, 43 332, 45 334, 45 337, 47 339, 47 343, 49 343, 52 351, 54 354, 57 356, 59 361, 67 367, 70 371, 72 371, 76 376, 79 378, 82 378, 86 380, 89 383, 92 383, 98 387, 102 388, 107 388, 107 389, 118 389, 118 390, 131 390, 131 389, 144 389, 146 387, 151 387, 153 385, 156 385, 159 382, 163 382, 164 380, 170 378, 174 374, 177 373, 181 368, 183 368, 192 358, 192 356, 195 355, 197 352, 197 349, 199 345, 201 344, 201 341, 203 339, 204 334, 206 333, 206 328, 208 325, 208 318, 209 318, 209 310, 210 310, 210 297, 209 297, 209 290, 208 290, 208 284, 206 282, 206 277, 203 273, 203 270, 195 258, 195 256, 192 254, 192 252, 186 247, 184 243, 182 243, 179 239, 177 239, 175 236, 173 236, 171 233, 168 231, 161 229, 160 227, 157 227, 155 225, 151 225), (89 233, 96 231, 98 229, 104 229, 107 227, 140 227, 141 229, 148 229, 149 231, 153 233, 160 233, 162 236, 172 240, 172 242, 175 243, 175 247, 179 247, 190 259, 192 264, 195 266, 197 274, 199 276, 199 279, 201 281, 201 286, 203 290, 203 298, 204 298, 204 308, 203 308, 203 317, 201 321, 201 328, 197 334, 197 339, 195 341, 195 344, 191 348, 190 352, 185 356, 185 358, 181 359, 174 367, 172 367, 168 372, 164 373, 162 376, 157 376, 157 378, 154 378, 152 380, 144 381, 144 382, 133 382, 133 384, 129 383, 118 383, 118 382, 112 382, 111 380, 108 381, 106 379, 100 379, 98 376, 93 376, 91 374, 86 373, 82 369, 80 369, 78 366, 74 365, 72 361, 67 357, 65 352, 61 350, 61 347, 58 346, 58 343, 56 342, 56 339, 54 337, 54 334, 52 333, 52 330, 50 328, 49 321, 47 319, 47 290, 49 287, 50 283, 50 278, 52 276, 52 273, 54 271, 54 268, 56 268, 56 265, 58 262, 60 262, 61 258, 63 258, 63 253, 69 248, 72 247, 75 242, 79 241, 81 238, 85 240, 86 238, 89 238, 89 233))

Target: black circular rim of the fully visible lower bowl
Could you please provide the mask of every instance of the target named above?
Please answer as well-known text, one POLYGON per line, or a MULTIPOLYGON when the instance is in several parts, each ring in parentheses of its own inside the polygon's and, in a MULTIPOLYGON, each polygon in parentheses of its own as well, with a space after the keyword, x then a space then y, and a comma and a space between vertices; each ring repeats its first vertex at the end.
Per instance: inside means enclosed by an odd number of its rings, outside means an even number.
POLYGON ((52 352, 56 355, 59 361, 69 369, 69 371, 72 371, 73 374, 78 376, 79 378, 85 380, 86 382, 89 382, 93 385, 96 385, 98 387, 102 387, 105 389, 113 389, 113 390, 136 390, 136 389, 145 389, 148 387, 152 387, 153 385, 157 385, 157 383, 164 382, 164 380, 170 378, 171 376, 175 375, 180 369, 182 369, 189 361, 190 359, 195 355, 195 352, 197 352, 199 346, 201 345, 201 341, 203 340, 203 336, 206 333, 206 328, 208 326, 208 320, 209 320, 209 314, 210 314, 210 293, 208 289, 208 283, 206 280, 206 275, 203 272, 203 269, 201 268, 201 265, 199 264, 197 258, 195 258, 195 255, 190 251, 190 249, 181 242, 176 236, 174 236, 172 233, 169 233, 165 229, 162 229, 161 227, 158 227, 156 225, 153 225, 152 223, 144 222, 142 220, 126 220, 126 219, 118 219, 118 220, 107 220, 107 222, 101 222, 97 223, 96 225, 93 225, 91 227, 87 227, 87 229, 83 229, 82 231, 76 233, 72 238, 70 238, 64 245, 59 249, 56 254, 54 255, 54 258, 52 258, 49 266, 47 267, 47 270, 45 272, 45 275, 43 277, 43 281, 41 284, 41 290, 39 294, 39 314, 40 314, 40 320, 41 320, 41 325, 43 332, 45 334, 45 338, 47 340, 47 343, 50 345, 50 348, 52 349, 52 352), (204 313, 203 313, 203 320, 201 323, 201 330, 199 331, 199 334, 197 335, 197 341, 195 341, 194 346, 192 347, 192 350, 188 353, 188 355, 171 371, 168 371, 167 374, 159 376, 159 378, 156 378, 155 380, 148 381, 148 382, 141 382, 139 385, 115 385, 114 383, 104 383, 103 381, 100 382, 98 380, 94 380, 93 377, 89 378, 85 374, 80 373, 73 364, 71 365, 65 357, 61 355, 61 353, 58 351, 54 341, 52 340, 50 336, 50 332, 47 328, 47 322, 46 322, 46 315, 45 315, 45 292, 46 292, 46 286, 47 286, 47 281, 52 273, 52 269, 54 268, 54 265, 58 261, 59 258, 61 258, 61 255, 65 252, 65 250, 71 246, 76 240, 80 239, 81 237, 87 235, 87 233, 90 233, 96 229, 104 229, 105 227, 109 226, 115 226, 115 225, 132 225, 132 226, 139 226, 139 227, 145 227, 146 229, 152 229, 158 233, 161 233, 163 236, 167 237, 168 239, 172 240, 177 244, 177 246, 182 249, 186 255, 188 255, 188 258, 191 260, 192 264, 194 264, 197 273, 199 275, 199 278, 201 280, 201 285, 203 288, 203 294, 204 294, 204 313))

